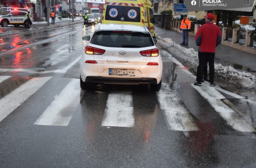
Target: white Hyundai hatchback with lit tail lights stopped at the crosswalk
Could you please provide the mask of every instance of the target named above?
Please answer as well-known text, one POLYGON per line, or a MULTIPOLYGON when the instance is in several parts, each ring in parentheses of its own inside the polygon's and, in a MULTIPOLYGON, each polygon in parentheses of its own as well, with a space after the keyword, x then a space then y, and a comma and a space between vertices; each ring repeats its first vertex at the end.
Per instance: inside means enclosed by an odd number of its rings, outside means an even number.
POLYGON ((102 84, 150 84, 159 91, 162 58, 146 27, 100 24, 90 36, 81 56, 80 86, 102 84))

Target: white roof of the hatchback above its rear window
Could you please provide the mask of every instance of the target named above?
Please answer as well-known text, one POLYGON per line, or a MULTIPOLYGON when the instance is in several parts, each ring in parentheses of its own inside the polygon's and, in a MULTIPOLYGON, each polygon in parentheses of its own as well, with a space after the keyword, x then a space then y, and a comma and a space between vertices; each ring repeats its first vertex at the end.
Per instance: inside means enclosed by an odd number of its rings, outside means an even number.
POLYGON ((130 24, 99 24, 96 28, 100 30, 128 30, 134 32, 148 32, 144 26, 136 26, 130 24))

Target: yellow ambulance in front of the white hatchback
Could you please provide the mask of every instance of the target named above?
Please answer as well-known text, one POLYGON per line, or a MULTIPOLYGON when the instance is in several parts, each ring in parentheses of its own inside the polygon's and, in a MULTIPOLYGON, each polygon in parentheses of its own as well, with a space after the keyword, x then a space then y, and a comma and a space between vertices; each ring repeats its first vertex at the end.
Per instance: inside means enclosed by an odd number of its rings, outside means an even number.
POLYGON ((146 26, 155 36, 152 3, 150 0, 106 0, 102 24, 133 24, 146 26))

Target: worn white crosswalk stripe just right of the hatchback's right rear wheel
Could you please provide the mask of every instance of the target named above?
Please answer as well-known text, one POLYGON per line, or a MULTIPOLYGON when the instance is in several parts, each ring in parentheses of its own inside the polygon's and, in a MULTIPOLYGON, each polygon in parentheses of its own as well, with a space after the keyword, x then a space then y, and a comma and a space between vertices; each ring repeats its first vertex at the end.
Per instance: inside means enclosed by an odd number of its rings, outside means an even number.
POLYGON ((162 109, 169 130, 196 131, 199 130, 188 109, 182 104, 176 90, 171 90, 166 83, 157 92, 158 102, 162 109))

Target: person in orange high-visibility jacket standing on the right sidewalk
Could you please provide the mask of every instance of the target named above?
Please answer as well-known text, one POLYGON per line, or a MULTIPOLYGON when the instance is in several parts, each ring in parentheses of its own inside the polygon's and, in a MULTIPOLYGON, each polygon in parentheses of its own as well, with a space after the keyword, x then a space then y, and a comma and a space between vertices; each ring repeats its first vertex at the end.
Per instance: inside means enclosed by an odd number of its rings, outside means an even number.
POLYGON ((187 15, 183 15, 183 20, 180 23, 180 31, 182 30, 182 43, 180 45, 188 45, 188 32, 190 31, 191 22, 187 15))

